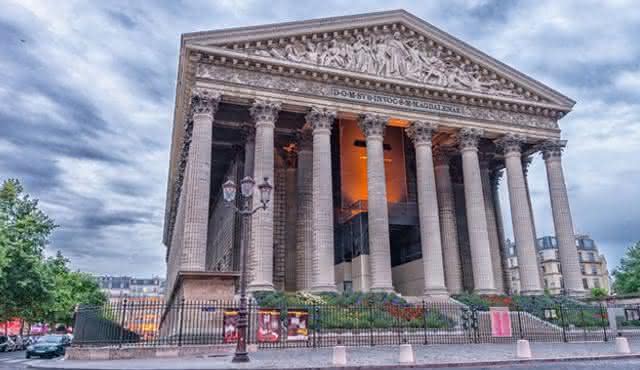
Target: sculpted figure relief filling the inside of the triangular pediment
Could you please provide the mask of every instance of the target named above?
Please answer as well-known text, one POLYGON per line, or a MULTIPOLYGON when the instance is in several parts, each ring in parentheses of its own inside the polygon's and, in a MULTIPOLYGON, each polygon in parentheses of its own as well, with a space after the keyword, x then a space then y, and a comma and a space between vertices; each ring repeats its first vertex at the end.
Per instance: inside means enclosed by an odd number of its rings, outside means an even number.
POLYGON ((460 55, 400 32, 357 34, 329 40, 295 39, 247 52, 438 87, 531 99, 523 89, 465 61, 460 55))

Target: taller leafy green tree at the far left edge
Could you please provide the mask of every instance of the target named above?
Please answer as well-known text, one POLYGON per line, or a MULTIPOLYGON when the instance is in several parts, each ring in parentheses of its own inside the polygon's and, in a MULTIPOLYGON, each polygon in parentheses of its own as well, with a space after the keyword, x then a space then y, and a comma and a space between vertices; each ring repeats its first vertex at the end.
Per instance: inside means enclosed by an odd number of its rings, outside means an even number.
POLYGON ((56 225, 23 191, 14 179, 0 187, 0 321, 35 320, 52 298, 53 281, 43 260, 56 225))

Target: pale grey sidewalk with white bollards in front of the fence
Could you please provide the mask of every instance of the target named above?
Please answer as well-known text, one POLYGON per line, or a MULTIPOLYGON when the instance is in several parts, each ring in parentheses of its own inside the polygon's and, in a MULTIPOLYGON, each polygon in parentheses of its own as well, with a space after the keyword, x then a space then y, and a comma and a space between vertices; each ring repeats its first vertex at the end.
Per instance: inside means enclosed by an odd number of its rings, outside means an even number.
MULTIPOLYGON (((414 346, 416 365, 457 367, 463 365, 514 364, 569 359, 640 358, 640 342, 630 343, 632 354, 616 355, 612 342, 598 343, 531 343, 533 358, 520 360, 515 344, 451 344, 414 346)), ((261 350, 251 353, 251 362, 234 364, 231 356, 191 357, 149 360, 112 361, 43 361, 35 369, 101 369, 101 370, 204 370, 204 369, 321 369, 333 368, 332 348, 261 350)), ((390 368, 398 365, 398 346, 347 348, 347 366, 390 368)), ((414 367, 416 365, 413 365, 414 367)), ((604 365, 604 363, 603 363, 604 365)), ((405 365, 406 366, 406 365, 405 365)), ((411 367, 411 366, 407 366, 411 367)))

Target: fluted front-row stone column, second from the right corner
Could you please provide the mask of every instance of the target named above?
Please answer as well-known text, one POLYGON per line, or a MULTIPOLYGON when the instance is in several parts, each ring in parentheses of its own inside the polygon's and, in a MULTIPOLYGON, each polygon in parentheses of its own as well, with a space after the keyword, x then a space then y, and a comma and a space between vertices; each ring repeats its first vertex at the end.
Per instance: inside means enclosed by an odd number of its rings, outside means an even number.
POLYGON ((533 238, 531 210, 527 200, 527 188, 520 158, 523 142, 524 138, 522 136, 506 134, 497 141, 497 144, 504 150, 505 166, 507 168, 513 237, 516 242, 518 269, 520 271, 520 294, 537 295, 542 293, 542 287, 540 285, 536 245, 533 238))

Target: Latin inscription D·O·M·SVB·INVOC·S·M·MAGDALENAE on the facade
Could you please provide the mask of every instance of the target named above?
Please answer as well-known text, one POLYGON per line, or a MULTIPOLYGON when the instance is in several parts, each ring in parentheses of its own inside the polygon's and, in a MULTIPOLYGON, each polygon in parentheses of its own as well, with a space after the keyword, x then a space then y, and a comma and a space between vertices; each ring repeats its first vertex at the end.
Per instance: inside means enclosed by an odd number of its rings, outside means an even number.
POLYGON ((375 103, 394 107, 410 108, 423 112, 448 113, 458 115, 463 115, 464 113, 463 107, 457 105, 433 103, 404 96, 393 96, 380 93, 372 94, 364 91, 345 89, 341 87, 332 87, 331 96, 364 103, 375 103))

